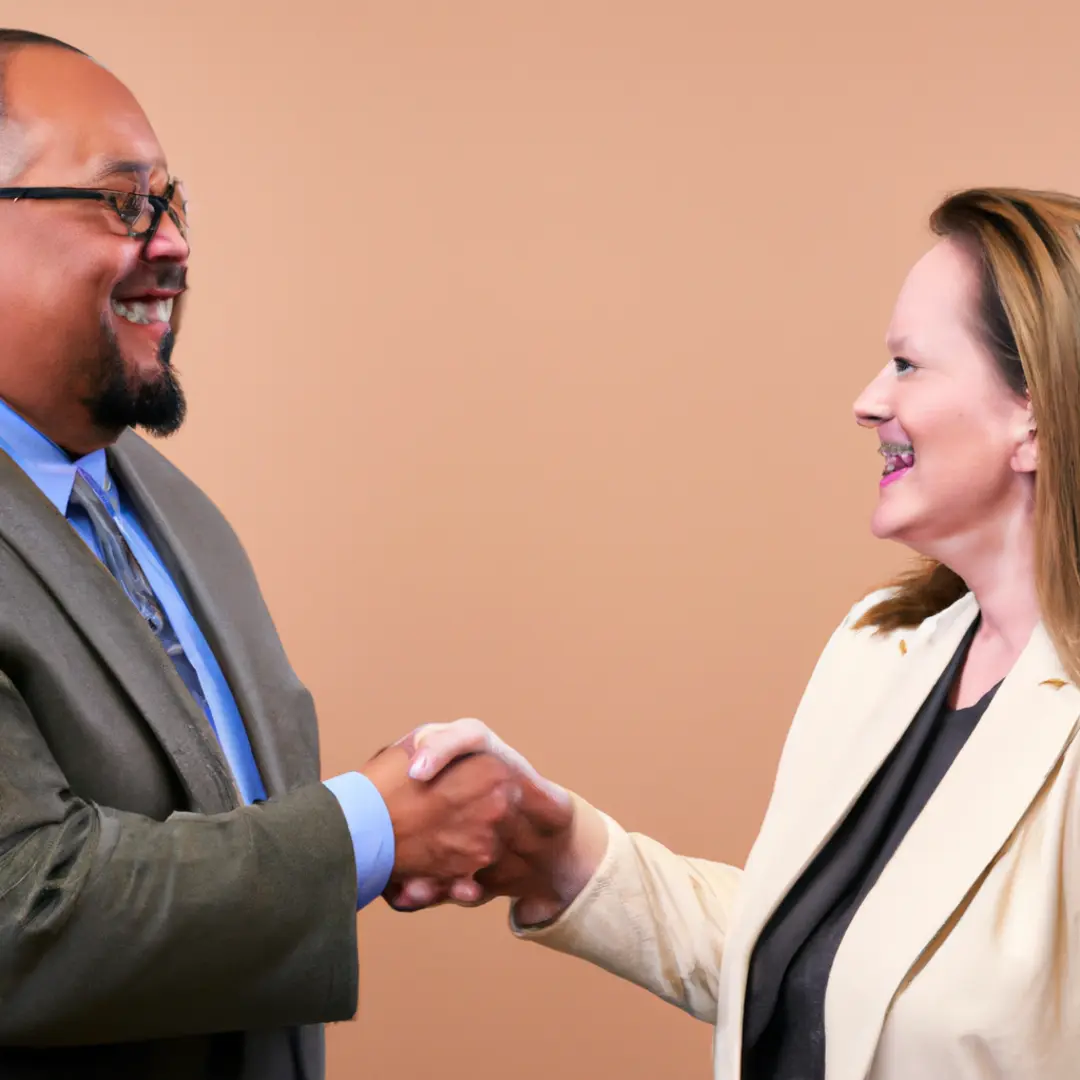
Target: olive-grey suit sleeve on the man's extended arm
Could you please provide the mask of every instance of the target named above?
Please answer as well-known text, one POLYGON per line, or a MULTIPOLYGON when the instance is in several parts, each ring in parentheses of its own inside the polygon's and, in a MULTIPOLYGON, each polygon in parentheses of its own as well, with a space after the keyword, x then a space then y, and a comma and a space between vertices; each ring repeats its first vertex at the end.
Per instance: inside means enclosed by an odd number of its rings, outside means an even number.
POLYGON ((323 784, 165 821, 78 798, 0 675, 0 1045, 347 1020, 356 876, 323 784))

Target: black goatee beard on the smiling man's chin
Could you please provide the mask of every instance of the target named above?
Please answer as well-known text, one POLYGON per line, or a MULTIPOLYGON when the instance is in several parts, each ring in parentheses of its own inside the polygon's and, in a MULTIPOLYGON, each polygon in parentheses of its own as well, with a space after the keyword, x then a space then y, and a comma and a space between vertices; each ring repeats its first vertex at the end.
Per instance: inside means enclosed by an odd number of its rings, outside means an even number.
POLYGON ((108 322, 102 320, 100 349, 95 364, 97 376, 94 391, 86 399, 95 427, 116 432, 141 428, 160 437, 179 431, 188 407, 171 364, 175 345, 176 337, 170 327, 158 350, 160 375, 133 384, 117 335, 108 322))

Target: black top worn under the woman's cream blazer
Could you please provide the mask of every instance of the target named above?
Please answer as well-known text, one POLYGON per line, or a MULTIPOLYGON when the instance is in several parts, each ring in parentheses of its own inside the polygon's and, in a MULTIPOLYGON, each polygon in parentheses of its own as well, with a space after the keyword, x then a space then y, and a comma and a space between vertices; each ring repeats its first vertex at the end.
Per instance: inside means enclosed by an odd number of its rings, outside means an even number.
POLYGON ((840 942, 997 690, 968 708, 948 707, 976 626, 761 932, 746 986, 745 1080, 824 1080, 825 988, 840 942))

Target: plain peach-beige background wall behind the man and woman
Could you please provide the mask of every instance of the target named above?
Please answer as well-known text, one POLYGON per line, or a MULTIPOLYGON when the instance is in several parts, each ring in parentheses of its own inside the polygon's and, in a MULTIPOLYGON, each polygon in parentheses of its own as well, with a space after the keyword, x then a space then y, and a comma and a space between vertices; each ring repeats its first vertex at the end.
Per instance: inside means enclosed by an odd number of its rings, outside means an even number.
MULTIPOLYGON (((188 183, 166 451, 248 544, 327 774, 476 714, 741 860, 825 636, 899 565, 850 404, 946 190, 1080 190, 1070 0, 0 0, 188 183)), ((514 942, 361 918, 330 1077, 710 1075, 514 942), (508 1064, 507 1055, 521 1053, 508 1064)))

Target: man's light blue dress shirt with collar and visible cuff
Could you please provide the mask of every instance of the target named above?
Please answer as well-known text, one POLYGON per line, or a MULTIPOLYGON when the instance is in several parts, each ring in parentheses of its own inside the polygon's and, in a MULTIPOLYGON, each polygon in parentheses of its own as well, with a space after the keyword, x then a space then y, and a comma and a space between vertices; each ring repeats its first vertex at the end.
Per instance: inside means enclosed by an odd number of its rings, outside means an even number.
MULTIPOLYGON (((161 606, 165 609, 180 646, 199 675, 210 711, 208 719, 226 760, 232 769, 241 797, 247 804, 266 798, 262 779, 247 739, 244 721, 199 624, 161 562, 134 509, 109 475, 105 450, 78 460, 28 423, 0 400, 0 450, 3 450, 38 486, 42 495, 65 516, 77 469, 87 472, 109 500, 109 512, 138 561, 161 606)), ((102 552, 90 523, 79 514, 71 527, 98 557, 102 552)), ((394 863, 394 832, 386 804, 375 785, 360 772, 347 772, 325 781, 345 813, 356 858, 356 907, 375 900, 386 888, 394 863)))

